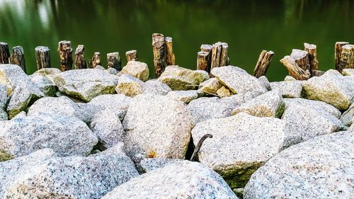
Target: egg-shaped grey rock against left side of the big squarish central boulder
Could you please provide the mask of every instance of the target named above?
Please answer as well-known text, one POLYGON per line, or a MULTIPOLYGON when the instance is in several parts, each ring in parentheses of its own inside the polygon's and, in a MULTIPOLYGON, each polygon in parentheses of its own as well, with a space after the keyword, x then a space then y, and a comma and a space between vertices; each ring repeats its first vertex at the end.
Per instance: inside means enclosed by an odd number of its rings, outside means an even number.
POLYGON ((106 148, 123 142, 124 129, 114 110, 106 108, 96 113, 91 120, 90 128, 98 137, 98 141, 106 148))

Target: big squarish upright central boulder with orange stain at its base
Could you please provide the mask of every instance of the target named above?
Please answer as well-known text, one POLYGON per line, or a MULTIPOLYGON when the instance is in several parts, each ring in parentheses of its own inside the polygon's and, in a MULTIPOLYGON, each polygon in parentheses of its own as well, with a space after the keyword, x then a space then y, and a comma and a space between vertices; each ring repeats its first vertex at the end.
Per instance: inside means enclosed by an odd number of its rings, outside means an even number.
POLYGON ((128 156, 183 159, 194 120, 183 102, 142 94, 132 98, 122 124, 128 156))

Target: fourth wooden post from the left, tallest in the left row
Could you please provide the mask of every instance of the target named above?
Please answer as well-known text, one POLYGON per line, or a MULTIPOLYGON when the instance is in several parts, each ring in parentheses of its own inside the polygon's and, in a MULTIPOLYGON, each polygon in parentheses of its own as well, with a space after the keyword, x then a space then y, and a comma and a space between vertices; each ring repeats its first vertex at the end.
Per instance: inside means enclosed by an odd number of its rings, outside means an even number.
POLYGON ((60 41, 58 45, 60 57, 60 70, 62 72, 72 69, 72 42, 60 41))

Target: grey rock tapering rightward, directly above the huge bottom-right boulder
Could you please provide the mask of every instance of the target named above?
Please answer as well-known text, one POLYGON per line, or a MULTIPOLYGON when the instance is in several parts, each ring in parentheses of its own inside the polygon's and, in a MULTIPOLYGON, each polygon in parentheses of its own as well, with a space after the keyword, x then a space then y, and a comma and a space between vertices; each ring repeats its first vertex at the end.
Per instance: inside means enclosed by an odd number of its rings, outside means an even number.
POLYGON ((284 147, 307 141, 319 135, 336 132, 343 128, 336 116, 324 108, 304 105, 306 103, 289 103, 285 101, 285 111, 282 120, 287 122, 284 147))

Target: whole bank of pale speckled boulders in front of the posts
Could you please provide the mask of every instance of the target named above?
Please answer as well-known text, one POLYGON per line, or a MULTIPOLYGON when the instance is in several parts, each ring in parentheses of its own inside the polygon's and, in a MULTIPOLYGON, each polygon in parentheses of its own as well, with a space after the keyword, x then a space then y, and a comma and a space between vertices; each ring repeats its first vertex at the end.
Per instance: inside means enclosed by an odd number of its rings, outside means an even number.
POLYGON ((350 198, 353 98, 354 69, 0 64, 0 198, 350 198))

